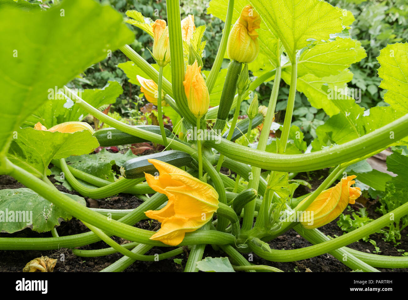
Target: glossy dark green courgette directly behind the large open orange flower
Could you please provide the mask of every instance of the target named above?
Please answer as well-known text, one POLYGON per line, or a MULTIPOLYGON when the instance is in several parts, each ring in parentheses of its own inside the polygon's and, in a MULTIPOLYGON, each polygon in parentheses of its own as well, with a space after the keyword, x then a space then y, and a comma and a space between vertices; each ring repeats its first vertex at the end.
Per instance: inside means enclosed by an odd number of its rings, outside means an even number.
POLYGON ((153 153, 145 156, 138 156, 132 158, 125 162, 122 167, 120 167, 120 173, 124 178, 142 178, 144 173, 149 173, 151 175, 157 175, 158 171, 148 162, 148 159, 156 159, 162 162, 167 162, 175 167, 189 166, 193 158, 187 153, 178 150, 169 150, 159 153, 153 153))

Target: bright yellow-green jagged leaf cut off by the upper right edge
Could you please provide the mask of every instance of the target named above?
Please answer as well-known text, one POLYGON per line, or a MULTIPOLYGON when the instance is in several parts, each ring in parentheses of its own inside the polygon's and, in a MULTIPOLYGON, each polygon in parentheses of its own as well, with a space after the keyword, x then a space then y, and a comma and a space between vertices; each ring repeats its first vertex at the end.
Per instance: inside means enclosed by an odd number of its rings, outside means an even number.
POLYGON ((382 78, 379 87, 386 89, 384 101, 393 109, 408 113, 408 42, 387 45, 377 58, 382 78))

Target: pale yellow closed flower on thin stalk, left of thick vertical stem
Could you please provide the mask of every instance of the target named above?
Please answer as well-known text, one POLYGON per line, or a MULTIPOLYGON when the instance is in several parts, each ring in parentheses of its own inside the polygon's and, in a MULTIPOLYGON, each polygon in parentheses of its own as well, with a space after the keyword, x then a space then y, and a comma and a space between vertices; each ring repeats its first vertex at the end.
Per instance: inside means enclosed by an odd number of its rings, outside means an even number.
POLYGON ((169 28, 166 21, 156 20, 153 28, 153 56, 160 67, 170 62, 169 28))

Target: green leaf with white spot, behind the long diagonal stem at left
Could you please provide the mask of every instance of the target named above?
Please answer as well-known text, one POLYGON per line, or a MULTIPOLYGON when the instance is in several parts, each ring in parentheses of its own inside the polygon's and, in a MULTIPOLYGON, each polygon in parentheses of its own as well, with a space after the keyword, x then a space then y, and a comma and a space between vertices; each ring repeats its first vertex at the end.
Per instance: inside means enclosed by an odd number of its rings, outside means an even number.
MULTIPOLYGON (((55 95, 54 89, 50 90, 50 93, 55 95)), ((85 89, 80 90, 78 96, 84 99, 93 107, 99 108, 106 104, 116 102, 123 93, 123 89, 117 81, 108 81, 108 83, 102 89, 85 89)), ((41 122, 47 128, 51 128, 54 125, 69 122, 69 121, 82 121, 84 116, 88 113, 81 109, 78 105, 69 99, 55 99, 45 102, 35 113, 27 118, 24 122, 26 126, 34 126, 37 122, 41 122)))

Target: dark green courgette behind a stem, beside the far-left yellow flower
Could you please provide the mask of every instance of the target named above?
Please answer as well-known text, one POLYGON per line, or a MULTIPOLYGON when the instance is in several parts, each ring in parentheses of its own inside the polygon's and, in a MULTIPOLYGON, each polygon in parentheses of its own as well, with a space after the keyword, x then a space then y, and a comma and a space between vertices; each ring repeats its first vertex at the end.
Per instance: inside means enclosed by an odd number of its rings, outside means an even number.
MULTIPOLYGON (((161 134, 160 127, 155 126, 155 125, 137 125, 135 126, 135 128, 143 129, 143 130, 150 131, 156 134, 161 134)), ((173 133, 171 133, 169 129, 164 128, 164 132, 166 133, 166 136, 168 138, 171 138, 171 139, 174 138, 180 141, 177 137, 174 136, 173 133)), ((137 136, 133 136, 129 133, 124 133, 120 131, 119 129, 116 129, 113 127, 99 129, 98 131, 95 131, 95 133, 93 133, 93 136, 97 138, 100 146, 102 147, 149 142, 148 140, 139 138, 137 136)))

